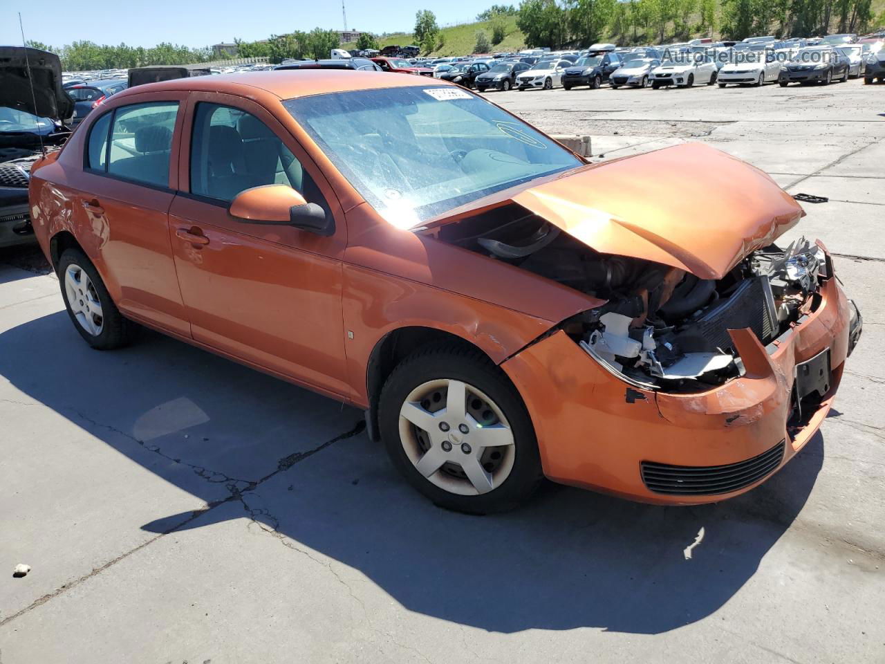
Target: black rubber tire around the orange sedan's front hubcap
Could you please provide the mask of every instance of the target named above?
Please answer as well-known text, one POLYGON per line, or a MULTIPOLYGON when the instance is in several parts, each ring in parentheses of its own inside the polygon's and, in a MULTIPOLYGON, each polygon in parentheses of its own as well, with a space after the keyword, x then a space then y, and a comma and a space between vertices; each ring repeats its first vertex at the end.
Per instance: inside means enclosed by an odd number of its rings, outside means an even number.
POLYGON ((412 353, 384 383, 378 421, 381 439, 396 469, 415 489, 445 509, 471 514, 504 512, 530 498, 543 481, 535 429, 519 392, 504 372, 474 349, 442 344, 412 353), (515 446, 513 466, 504 481, 487 493, 465 496, 444 490, 421 475, 404 450, 399 433, 400 409, 412 390, 436 379, 475 386, 495 402, 510 423, 515 446))

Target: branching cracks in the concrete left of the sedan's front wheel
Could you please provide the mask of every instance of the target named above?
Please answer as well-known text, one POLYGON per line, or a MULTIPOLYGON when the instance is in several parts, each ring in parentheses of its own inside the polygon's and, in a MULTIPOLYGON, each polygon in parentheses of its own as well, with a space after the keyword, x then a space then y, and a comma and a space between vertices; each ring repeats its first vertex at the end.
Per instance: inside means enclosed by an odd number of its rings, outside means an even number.
MULTIPOLYGON (((77 413, 77 414, 80 415, 83 420, 89 421, 97 427, 102 427, 104 429, 115 431, 115 432, 119 433, 121 436, 125 436, 125 437, 129 438, 130 440, 135 441, 135 443, 144 446, 145 449, 149 450, 150 452, 156 452, 156 453, 160 454, 160 456, 162 456, 164 459, 172 460, 175 463, 182 463, 181 460, 172 459, 171 457, 163 454, 162 452, 159 452, 158 450, 157 451, 150 450, 150 447, 145 446, 143 441, 140 441, 138 438, 135 438, 135 436, 130 436, 126 432, 121 431, 121 430, 119 430, 115 427, 112 427, 110 425, 105 425, 105 424, 101 424, 99 422, 96 422, 96 421, 92 420, 91 418, 87 417, 86 415, 83 415, 82 413, 77 413)), ((183 526, 186 526, 190 521, 194 521, 195 519, 199 518, 200 516, 203 516, 205 513, 211 512, 213 509, 215 509, 218 506, 224 505, 224 504, 232 502, 234 500, 239 500, 243 503, 243 506, 246 506, 245 502, 243 502, 243 500, 242 500, 242 494, 244 492, 254 490, 261 483, 264 483, 267 480, 271 479, 274 475, 278 475, 279 473, 289 470, 289 468, 296 465, 296 463, 299 463, 299 462, 303 461, 304 459, 308 459, 308 458, 312 457, 317 452, 325 450, 331 444, 335 444, 335 443, 342 441, 346 438, 358 436, 358 434, 360 434, 363 431, 363 429, 366 429, 366 422, 361 420, 361 421, 358 421, 357 424, 349 431, 346 431, 342 434, 339 434, 338 436, 335 436, 334 438, 327 440, 325 443, 318 445, 317 447, 313 448, 312 450, 307 450, 305 452, 293 452, 292 454, 289 454, 288 456, 285 456, 282 459, 280 459, 277 462, 276 469, 273 470, 272 472, 268 473, 267 475, 265 475, 264 477, 262 477, 259 480, 247 481, 247 480, 237 480, 235 478, 229 478, 233 481, 231 483, 228 483, 226 486, 226 488, 229 492, 229 495, 227 496, 227 498, 221 498, 219 500, 213 501, 212 503, 207 503, 206 506, 194 510, 193 512, 190 513, 189 517, 187 517, 186 519, 184 519, 180 523, 174 525, 173 527, 171 527, 169 529, 165 529, 163 532, 159 533, 157 536, 151 537, 149 540, 142 542, 142 544, 135 546, 135 548, 130 549, 127 552, 120 553, 119 556, 117 556, 113 560, 109 560, 108 562, 104 563, 104 565, 102 565, 100 567, 94 567, 92 569, 92 571, 89 572, 89 574, 82 575, 80 578, 75 579, 74 581, 72 581, 70 583, 63 583, 61 585, 61 587, 57 588, 55 591, 52 591, 47 595, 43 595, 42 598, 35 599, 30 605, 26 606, 25 608, 20 609, 15 614, 12 614, 12 615, 4 618, 2 621, 0 621, 0 627, 4 627, 4 625, 6 625, 7 623, 14 621, 16 618, 19 618, 19 616, 27 614, 27 612, 31 611, 32 609, 35 609, 37 606, 42 606, 46 602, 50 601, 50 599, 56 598, 59 595, 65 593, 66 591, 70 591, 72 588, 80 585, 81 583, 83 583, 85 581, 88 581, 93 576, 101 574, 102 572, 104 572, 105 569, 107 569, 108 567, 112 567, 113 565, 117 564, 120 560, 127 559, 133 553, 139 552, 144 547, 149 546, 150 544, 153 544, 161 537, 165 537, 166 535, 169 535, 170 533, 173 533, 174 531, 181 529, 183 526), (237 483, 246 483, 247 486, 244 490, 240 490, 239 487, 237 487, 237 483)), ((183 465, 195 469, 195 472, 196 472, 196 468, 200 468, 200 470, 202 470, 204 472, 206 470, 203 467, 197 467, 197 466, 194 466, 193 464, 184 463, 183 465)), ((224 475, 223 473, 218 473, 217 471, 211 471, 211 472, 212 472, 212 474, 217 474, 219 476, 227 477, 227 475, 224 475)), ((196 473, 196 474, 203 477, 204 479, 212 482, 212 479, 210 479, 210 477, 212 475, 204 475, 204 473, 196 473)), ((247 512, 248 512, 248 506, 246 506, 246 507, 247 507, 247 512)))

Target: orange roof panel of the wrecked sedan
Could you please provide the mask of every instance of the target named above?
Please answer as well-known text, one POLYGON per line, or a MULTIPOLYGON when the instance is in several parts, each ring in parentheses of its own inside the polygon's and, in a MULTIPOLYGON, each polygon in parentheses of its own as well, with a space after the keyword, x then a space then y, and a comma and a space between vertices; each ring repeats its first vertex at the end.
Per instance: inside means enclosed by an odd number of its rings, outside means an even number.
POLYGON ((119 92, 129 97, 142 92, 218 92, 250 97, 263 90, 280 99, 311 97, 330 92, 352 92, 363 89, 417 88, 428 85, 449 85, 434 79, 409 74, 388 72, 359 72, 355 69, 279 69, 265 72, 227 73, 213 76, 195 76, 146 83, 119 92))

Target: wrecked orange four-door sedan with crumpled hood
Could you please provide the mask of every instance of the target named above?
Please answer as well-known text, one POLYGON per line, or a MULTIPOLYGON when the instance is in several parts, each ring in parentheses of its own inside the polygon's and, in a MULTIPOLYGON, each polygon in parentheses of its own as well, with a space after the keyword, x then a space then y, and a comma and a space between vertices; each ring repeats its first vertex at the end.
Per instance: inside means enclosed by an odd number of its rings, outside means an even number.
POLYGON ((774 244, 804 212, 758 169, 700 144, 591 165, 417 76, 129 89, 35 165, 30 204, 91 346, 135 322, 366 409, 404 477, 470 513, 544 476, 750 490, 818 429, 861 329, 823 245, 774 244))

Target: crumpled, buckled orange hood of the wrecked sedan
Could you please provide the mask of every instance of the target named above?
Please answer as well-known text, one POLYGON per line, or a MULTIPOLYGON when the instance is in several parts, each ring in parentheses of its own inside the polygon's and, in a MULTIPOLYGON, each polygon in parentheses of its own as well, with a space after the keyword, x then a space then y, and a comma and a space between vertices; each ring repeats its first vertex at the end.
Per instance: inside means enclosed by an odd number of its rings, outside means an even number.
POLYGON ((498 192, 423 228, 510 203, 595 251, 679 267, 702 279, 721 279, 804 216, 755 166, 702 143, 685 143, 498 192))

